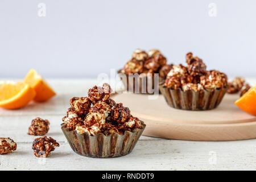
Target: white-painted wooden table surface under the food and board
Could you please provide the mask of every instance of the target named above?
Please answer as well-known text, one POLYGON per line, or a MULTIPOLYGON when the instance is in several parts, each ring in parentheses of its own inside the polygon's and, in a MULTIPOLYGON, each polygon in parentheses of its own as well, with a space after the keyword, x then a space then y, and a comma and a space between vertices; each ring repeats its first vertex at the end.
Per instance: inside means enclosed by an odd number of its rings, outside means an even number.
MULTIPOLYGON (((232 142, 195 142, 142 136, 131 154, 113 159, 75 154, 61 129, 61 118, 73 96, 87 96, 96 80, 48 80, 57 96, 45 103, 31 102, 19 110, 0 109, 0 137, 10 137, 17 150, 0 155, 0 170, 215 170, 256 169, 256 139, 232 142), (51 122, 47 137, 60 143, 49 158, 36 158, 31 149, 36 136, 27 135, 35 117, 51 122)), ((256 79, 250 79, 256 84, 256 79)), ((124 103, 125 105, 125 103, 124 103)))

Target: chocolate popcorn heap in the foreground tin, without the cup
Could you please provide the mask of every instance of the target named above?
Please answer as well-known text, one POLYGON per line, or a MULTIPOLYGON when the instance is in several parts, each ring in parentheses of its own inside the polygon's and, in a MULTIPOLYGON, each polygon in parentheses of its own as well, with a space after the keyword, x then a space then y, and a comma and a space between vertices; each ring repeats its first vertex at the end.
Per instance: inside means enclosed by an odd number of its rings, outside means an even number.
MULTIPOLYGON (((134 56, 144 59, 144 55, 134 56)), ((110 85, 103 84, 102 87, 93 86, 89 89, 88 97, 73 97, 67 116, 63 118, 66 127, 79 134, 89 135, 110 135, 114 132, 123 134, 126 130, 141 128, 142 122, 130 114, 128 107, 124 107, 122 103, 116 104, 110 98, 111 92, 110 85)))

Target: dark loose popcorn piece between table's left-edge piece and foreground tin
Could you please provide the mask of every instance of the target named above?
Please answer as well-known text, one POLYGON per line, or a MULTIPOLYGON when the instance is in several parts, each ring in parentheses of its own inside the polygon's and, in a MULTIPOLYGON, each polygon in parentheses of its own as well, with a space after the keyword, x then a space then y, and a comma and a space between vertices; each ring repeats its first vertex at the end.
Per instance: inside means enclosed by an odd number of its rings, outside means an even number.
POLYGON ((36 138, 32 144, 32 150, 34 150, 34 155, 38 158, 46 158, 51 154, 51 151, 55 150, 55 147, 59 147, 60 144, 56 142, 55 139, 49 137, 39 137, 36 138))

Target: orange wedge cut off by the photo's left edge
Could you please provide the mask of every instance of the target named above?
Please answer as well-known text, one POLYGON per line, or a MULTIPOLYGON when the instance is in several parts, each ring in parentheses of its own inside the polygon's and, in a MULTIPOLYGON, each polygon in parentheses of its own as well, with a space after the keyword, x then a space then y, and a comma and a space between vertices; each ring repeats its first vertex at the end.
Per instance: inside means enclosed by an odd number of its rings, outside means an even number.
POLYGON ((28 104, 35 97, 35 90, 22 81, 0 82, 0 107, 18 109, 28 104))

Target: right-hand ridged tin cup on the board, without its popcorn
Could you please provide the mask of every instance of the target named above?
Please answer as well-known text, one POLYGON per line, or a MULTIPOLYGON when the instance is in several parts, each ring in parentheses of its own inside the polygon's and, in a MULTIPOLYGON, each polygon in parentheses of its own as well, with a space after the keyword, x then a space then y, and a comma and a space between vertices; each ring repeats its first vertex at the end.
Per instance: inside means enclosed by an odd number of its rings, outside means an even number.
POLYGON ((228 88, 214 89, 211 91, 194 90, 183 91, 170 89, 164 86, 164 82, 159 84, 159 89, 169 106, 184 110, 210 110, 216 108, 224 97, 228 88))

